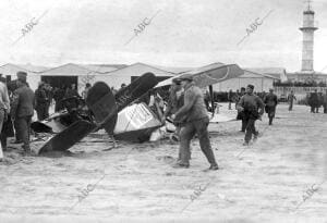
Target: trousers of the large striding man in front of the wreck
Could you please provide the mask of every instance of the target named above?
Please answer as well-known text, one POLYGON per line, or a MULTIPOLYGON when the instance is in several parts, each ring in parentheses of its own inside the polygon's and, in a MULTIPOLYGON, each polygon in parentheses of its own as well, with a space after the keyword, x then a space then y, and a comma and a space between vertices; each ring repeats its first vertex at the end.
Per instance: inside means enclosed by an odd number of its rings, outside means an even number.
POLYGON ((191 151, 190 143, 195 134, 198 136, 199 147, 208 162, 211 165, 217 165, 208 133, 209 119, 201 119, 183 124, 180 131, 180 153, 181 164, 190 164, 191 151))

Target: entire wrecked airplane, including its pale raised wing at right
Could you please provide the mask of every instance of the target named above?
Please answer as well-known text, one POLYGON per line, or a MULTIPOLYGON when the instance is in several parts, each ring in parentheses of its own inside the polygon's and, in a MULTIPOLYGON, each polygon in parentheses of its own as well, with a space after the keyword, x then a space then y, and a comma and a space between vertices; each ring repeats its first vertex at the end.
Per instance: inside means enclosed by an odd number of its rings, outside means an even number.
MULTIPOLYGON (((119 140, 145 141, 148 140, 152 133, 162 125, 160 115, 142 102, 135 102, 142 98, 148 90, 171 85, 172 78, 191 75, 195 85, 204 88, 209 86, 211 104, 213 87, 211 85, 234 78, 243 74, 243 70, 237 64, 214 63, 196 70, 181 73, 174 77, 158 83, 152 73, 146 73, 132 82, 128 87, 119 90, 114 96, 107 84, 96 83, 88 91, 86 106, 93 112, 94 120, 88 115, 84 116, 78 112, 62 112, 52 116, 52 119, 34 124, 34 131, 41 127, 51 133, 58 132, 39 149, 41 154, 51 150, 66 150, 75 143, 84 138, 92 132, 105 128, 106 132, 119 140), (77 121, 70 124, 62 124, 64 116, 75 115, 77 121), (60 124, 58 124, 58 121, 60 124), (45 127, 46 126, 46 127, 45 127)), ((82 112, 83 113, 83 112, 82 112)), ((222 117, 220 120, 230 120, 222 117)), ((217 120, 217 117, 216 117, 217 120)), ((219 119, 218 119, 219 120, 219 119)))

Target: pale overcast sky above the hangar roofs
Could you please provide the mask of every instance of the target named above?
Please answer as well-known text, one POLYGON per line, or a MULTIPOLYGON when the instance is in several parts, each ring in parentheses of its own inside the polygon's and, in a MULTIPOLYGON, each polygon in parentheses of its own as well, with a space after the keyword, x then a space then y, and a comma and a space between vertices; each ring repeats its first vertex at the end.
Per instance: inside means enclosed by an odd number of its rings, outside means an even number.
MULTIPOLYGON (((0 62, 144 62, 301 70, 304 0, 0 0, 0 62), (48 10, 48 11, 47 11, 48 10), (272 11, 272 12, 271 12, 272 11), (29 33, 22 28, 39 20, 29 33), (159 12, 145 29, 134 28, 159 12), (257 17, 271 12, 238 46, 257 17)), ((327 72, 327 0, 315 0, 315 70, 327 72)))

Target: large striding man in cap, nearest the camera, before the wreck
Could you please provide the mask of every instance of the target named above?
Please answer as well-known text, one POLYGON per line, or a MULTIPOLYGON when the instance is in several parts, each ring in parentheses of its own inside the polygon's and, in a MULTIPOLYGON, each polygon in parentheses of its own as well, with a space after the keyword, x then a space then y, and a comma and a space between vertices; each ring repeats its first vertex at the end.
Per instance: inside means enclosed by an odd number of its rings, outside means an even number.
POLYGON ((204 95, 195 86, 191 76, 180 77, 180 80, 184 88, 184 104, 171 116, 173 120, 183 120, 180 131, 181 160, 177 162, 174 168, 190 166, 190 143, 193 136, 197 134, 201 149, 210 163, 209 170, 218 170, 207 129, 209 117, 204 103, 204 95))

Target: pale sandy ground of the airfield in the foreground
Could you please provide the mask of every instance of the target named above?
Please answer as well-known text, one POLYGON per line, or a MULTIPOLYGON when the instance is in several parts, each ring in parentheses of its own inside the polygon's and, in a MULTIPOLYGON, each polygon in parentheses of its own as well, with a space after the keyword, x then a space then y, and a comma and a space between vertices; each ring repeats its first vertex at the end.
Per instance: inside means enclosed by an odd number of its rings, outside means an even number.
POLYGON ((11 149, 0 164, 0 222, 327 222, 327 114, 308 110, 280 104, 250 147, 240 122, 210 124, 216 172, 203 171, 197 139, 189 170, 171 168, 178 145, 168 139, 112 149, 87 137, 56 158, 11 149))

